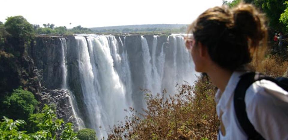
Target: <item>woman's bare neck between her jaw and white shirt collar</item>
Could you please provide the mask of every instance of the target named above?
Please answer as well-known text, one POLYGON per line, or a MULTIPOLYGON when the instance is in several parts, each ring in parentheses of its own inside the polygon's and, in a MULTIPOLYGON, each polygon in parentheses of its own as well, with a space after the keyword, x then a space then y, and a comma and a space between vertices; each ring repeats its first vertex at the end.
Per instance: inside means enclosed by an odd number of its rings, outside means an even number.
POLYGON ((232 71, 214 65, 212 69, 207 71, 207 74, 211 78, 212 83, 223 93, 232 75, 232 71))

